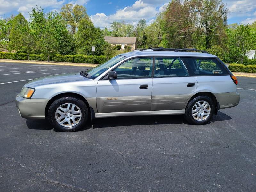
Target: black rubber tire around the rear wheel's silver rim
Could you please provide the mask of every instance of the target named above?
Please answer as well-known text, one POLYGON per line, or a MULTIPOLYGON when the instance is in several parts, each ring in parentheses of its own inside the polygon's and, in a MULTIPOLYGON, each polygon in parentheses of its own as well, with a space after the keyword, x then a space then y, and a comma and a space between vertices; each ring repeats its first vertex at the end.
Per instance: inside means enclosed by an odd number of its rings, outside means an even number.
MULTIPOLYGON (((188 123, 190 124, 194 124, 194 125, 204 125, 204 124, 207 124, 211 119, 212 119, 212 116, 214 114, 214 110, 215 110, 215 105, 214 105, 214 102, 212 101, 212 99, 210 97, 207 97, 207 96, 197 96, 195 97, 194 99, 192 99, 191 101, 189 101, 186 109, 185 109, 185 119, 188 121, 188 123), (207 118, 201 120, 201 121, 198 121, 196 120, 193 116, 192 116, 192 108, 193 106, 198 102, 198 101, 206 101, 209 103, 210 107, 211 107, 211 110, 210 110, 210 114, 207 118)), ((205 116, 206 117, 206 116, 205 116)))

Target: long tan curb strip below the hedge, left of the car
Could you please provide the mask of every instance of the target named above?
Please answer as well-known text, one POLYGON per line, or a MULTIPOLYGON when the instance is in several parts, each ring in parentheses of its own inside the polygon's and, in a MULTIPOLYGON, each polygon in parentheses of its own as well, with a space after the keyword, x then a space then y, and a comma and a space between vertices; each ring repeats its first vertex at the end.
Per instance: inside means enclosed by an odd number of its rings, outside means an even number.
POLYGON ((64 65, 64 66, 80 66, 80 67, 96 67, 98 64, 90 63, 64 63, 64 62, 44 62, 44 61, 27 61, 27 60, 5 60, 0 59, 0 63, 30 63, 30 64, 44 64, 44 65, 64 65))

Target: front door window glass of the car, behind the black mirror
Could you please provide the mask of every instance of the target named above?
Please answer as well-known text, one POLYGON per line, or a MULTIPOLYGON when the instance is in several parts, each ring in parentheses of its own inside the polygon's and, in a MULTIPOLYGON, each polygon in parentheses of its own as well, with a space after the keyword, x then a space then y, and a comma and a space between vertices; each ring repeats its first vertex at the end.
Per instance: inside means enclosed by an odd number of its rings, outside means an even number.
POLYGON ((150 78, 152 74, 153 58, 134 58, 125 61, 116 69, 117 79, 150 78))

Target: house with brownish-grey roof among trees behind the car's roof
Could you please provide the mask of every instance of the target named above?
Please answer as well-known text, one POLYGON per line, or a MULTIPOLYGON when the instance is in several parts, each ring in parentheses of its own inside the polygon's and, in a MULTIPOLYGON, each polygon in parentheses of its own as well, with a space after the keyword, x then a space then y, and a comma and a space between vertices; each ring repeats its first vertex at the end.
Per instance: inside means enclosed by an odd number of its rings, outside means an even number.
POLYGON ((112 46, 121 45, 121 49, 125 46, 130 46, 133 50, 137 49, 137 38, 136 37, 112 37, 104 36, 105 41, 110 43, 112 46))

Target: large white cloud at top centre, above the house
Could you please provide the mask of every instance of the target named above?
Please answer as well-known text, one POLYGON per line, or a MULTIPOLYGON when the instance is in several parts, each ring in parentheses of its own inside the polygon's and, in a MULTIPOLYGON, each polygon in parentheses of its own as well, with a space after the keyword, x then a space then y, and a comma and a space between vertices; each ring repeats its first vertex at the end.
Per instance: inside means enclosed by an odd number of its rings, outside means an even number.
POLYGON ((118 9, 114 14, 105 15, 104 13, 97 13, 91 15, 90 18, 95 26, 100 28, 110 27, 110 23, 113 21, 129 22, 136 24, 140 19, 146 19, 148 23, 151 23, 156 14, 161 11, 163 5, 169 2, 168 0, 137 0, 131 6, 118 9), (160 5, 160 7, 159 7, 160 5))

